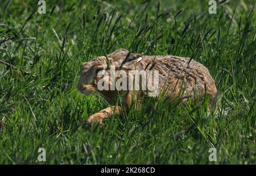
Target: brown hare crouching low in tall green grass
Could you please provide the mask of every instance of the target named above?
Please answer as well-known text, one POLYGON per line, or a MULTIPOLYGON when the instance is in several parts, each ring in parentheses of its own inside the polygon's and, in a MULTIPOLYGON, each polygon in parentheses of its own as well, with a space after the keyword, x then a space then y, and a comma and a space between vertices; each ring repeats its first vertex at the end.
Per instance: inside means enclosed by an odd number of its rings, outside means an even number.
MULTIPOLYGON (((208 69, 199 62, 189 58, 170 55, 144 56, 137 53, 130 53, 126 49, 118 49, 107 57, 96 57, 82 64, 77 89, 86 95, 91 95, 94 91, 97 91, 113 105, 91 115, 88 118, 89 123, 92 121, 102 123, 103 119, 112 115, 114 112, 120 114, 122 111, 121 107, 127 110, 131 105, 132 96, 134 95, 133 92, 136 91, 134 89, 122 91, 122 93, 125 94, 122 106, 114 106, 114 100, 119 96, 118 91, 113 89, 98 89, 98 83, 104 77, 103 72, 110 75, 110 72, 117 73, 118 70, 124 70, 126 73, 130 70, 157 71, 159 74, 157 80, 158 90, 160 92, 164 90, 164 95, 170 96, 171 99, 175 99, 181 91, 184 96, 192 95, 196 97, 201 94, 208 94, 211 100, 213 100, 217 94, 214 80, 210 76, 208 69), (114 71, 112 71, 112 68, 114 68, 114 71), (99 76, 100 72, 102 73, 101 76, 99 76)), ((107 79, 109 80, 109 78, 107 79)), ((113 82, 110 81, 110 85, 107 85, 107 87, 109 88, 112 84, 113 82)))

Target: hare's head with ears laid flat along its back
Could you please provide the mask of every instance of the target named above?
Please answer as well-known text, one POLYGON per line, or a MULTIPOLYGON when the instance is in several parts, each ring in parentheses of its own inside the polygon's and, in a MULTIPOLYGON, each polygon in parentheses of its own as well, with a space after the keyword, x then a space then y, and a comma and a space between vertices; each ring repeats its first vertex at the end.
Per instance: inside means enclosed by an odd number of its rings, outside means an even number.
MULTIPOLYGON (((141 60, 141 58, 139 60, 141 60)), ((98 75, 103 76, 104 72, 108 72, 112 66, 114 66, 115 69, 120 68, 121 65, 125 68, 139 60, 137 59, 137 55, 130 54, 126 49, 118 49, 108 55, 108 58, 100 56, 93 58, 93 60, 89 62, 84 62, 82 63, 81 76, 77 83, 77 89, 83 94, 91 95, 94 91, 97 91, 97 83, 102 78, 98 75), (100 74, 98 74, 99 72, 100 74)))

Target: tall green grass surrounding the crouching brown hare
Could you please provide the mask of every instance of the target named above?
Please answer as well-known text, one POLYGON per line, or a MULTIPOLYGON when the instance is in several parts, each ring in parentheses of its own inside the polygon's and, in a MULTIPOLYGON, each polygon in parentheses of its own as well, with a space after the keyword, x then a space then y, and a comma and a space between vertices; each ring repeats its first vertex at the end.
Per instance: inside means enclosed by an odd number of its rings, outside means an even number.
POLYGON ((253 0, 217 3, 217 14, 203 0, 47 1, 46 14, 36 1, 0 2, 0 164, 256 164, 253 0), (77 91, 80 65, 118 48, 207 66, 218 117, 160 98, 86 125, 107 105, 77 91))

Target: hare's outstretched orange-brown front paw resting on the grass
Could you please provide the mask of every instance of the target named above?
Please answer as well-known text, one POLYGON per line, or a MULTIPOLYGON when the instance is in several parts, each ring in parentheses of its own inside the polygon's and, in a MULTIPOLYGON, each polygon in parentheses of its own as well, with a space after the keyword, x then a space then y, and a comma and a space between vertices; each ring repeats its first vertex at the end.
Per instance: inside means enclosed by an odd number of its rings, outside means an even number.
POLYGON ((115 108, 115 106, 110 106, 105 108, 104 110, 101 110, 100 112, 97 112, 96 114, 91 115, 87 121, 88 123, 92 123, 93 121, 96 121, 98 123, 102 123, 102 120, 105 118, 108 118, 110 115, 113 115, 115 112, 115 114, 120 114, 121 112, 121 107, 117 106, 115 108))

